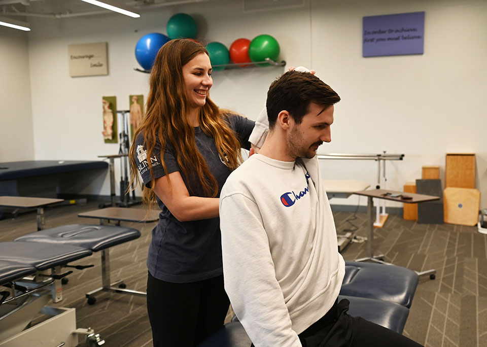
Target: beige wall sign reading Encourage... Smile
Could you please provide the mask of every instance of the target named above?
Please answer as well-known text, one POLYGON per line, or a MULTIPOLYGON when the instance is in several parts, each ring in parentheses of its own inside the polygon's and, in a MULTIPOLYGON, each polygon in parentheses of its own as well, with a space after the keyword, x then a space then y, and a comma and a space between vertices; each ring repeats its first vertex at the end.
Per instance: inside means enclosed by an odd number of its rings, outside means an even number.
POLYGON ((108 75, 107 43, 68 45, 69 76, 108 75))

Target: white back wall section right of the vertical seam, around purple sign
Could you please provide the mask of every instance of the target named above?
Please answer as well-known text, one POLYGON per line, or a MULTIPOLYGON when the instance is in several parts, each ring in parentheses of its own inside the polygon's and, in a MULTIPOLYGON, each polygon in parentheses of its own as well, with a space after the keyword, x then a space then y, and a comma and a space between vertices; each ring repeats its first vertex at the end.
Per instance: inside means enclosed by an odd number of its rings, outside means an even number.
MULTIPOLYGON (((421 178, 423 165, 439 165, 444 184, 445 153, 476 153, 487 207, 486 13, 487 2, 472 0, 314 2, 312 64, 342 97, 322 151, 405 154, 387 162, 387 187, 396 190, 421 178), (363 16, 418 11, 425 11, 423 55, 362 57, 363 16)), ((332 179, 376 182, 375 162, 328 165, 332 179)))

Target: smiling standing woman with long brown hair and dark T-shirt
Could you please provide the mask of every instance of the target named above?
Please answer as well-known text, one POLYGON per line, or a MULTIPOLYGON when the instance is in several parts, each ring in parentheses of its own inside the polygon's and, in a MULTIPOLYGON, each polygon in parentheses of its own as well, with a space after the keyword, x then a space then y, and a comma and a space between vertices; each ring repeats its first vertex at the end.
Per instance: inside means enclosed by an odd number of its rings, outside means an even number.
POLYGON ((220 190, 250 148, 254 122, 219 109, 206 49, 172 40, 157 54, 146 116, 130 148, 143 199, 161 208, 147 266, 154 346, 193 346, 218 330, 229 306, 223 288, 220 190))

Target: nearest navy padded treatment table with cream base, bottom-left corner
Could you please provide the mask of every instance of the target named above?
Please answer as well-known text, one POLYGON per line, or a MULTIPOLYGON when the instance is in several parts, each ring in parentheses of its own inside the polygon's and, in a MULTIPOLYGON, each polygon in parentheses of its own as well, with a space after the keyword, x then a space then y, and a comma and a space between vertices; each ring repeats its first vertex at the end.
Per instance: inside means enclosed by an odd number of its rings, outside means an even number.
POLYGON ((56 285, 65 274, 59 274, 58 268, 90 254, 69 245, 0 242, 0 258, 8 259, 0 260, 0 287, 4 288, 0 292, 0 347, 74 347, 80 334, 89 346, 105 343, 91 328, 77 328, 74 308, 47 306, 51 296, 53 302, 62 296, 56 285), (42 321, 32 325, 40 313, 42 321))

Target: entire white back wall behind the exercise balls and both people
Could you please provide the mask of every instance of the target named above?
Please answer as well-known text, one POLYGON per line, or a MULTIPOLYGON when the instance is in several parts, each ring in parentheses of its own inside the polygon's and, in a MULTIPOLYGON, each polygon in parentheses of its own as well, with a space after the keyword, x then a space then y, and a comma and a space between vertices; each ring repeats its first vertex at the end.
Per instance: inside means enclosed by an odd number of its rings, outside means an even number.
MULTIPOLYGON (((116 153, 103 144, 101 96, 116 95, 127 109, 129 94, 148 91, 148 75, 134 72, 137 40, 165 33, 171 15, 196 19, 200 37, 225 45, 268 33, 280 43, 289 65, 312 66, 342 97, 335 111, 333 142, 320 153, 404 153, 388 162, 388 187, 401 190, 421 178, 422 165, 440 165, 445 153, 477 155, 477 189, 487 207, 487 2, 483 0, 312 0, 301 8, 243 13, 239 1, 215 1, 121 15, 32 19, 30 81, 36 159, 97 159, 116 153), (425 11, 425 54, 362 57, 362 17, 425 11), (108 42, 109 75, 71 78, 67 45, 108 42)), ((214 73, 212 98, 255 119, 270 82, 287 67, 214 73)), ((325 178, 361 179, 375 185, 371 161, 322 162, 325 178)), ((118 177, 118 175, 117 175, 118 177)), ((91 192, 89 188, 87 192, 91 192)), ((92 194, 108 194, 108 179, 92 194)), ((361 204, 365 204, 362 199, 361 204)), ((357 198, 332 203, 356 204, 357 198)))

